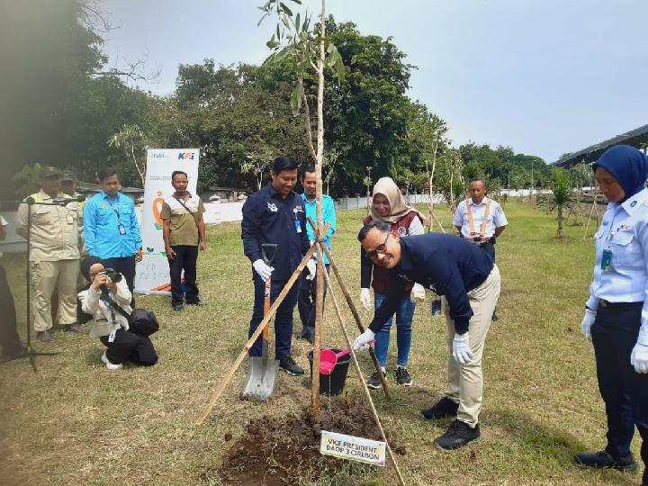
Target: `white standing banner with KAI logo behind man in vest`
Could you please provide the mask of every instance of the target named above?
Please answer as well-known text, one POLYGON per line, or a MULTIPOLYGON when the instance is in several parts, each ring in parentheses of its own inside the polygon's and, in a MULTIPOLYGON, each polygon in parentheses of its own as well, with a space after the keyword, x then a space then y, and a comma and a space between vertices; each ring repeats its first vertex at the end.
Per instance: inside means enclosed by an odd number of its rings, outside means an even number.
POLYGON ((141 234, 142 260, 137 264, 135 292, 171 292, 169 266, 162 239, 162 202, 174 193, 171 173, 186 172, 189 180, 187 191, 195 194, 198 183, 198 148, 150 148, 147 150, 147 174, 144 184, 141 234))

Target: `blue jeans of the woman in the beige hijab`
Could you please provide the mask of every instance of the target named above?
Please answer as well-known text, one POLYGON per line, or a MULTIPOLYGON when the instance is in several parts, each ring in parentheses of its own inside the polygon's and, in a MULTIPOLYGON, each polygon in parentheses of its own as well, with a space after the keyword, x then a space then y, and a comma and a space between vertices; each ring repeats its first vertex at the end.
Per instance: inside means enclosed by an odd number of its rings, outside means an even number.
MULTIPOLYGON (((385 300, 383 293, 374 292, 374 308, 377 311, 385 300)), ((411 320, 414 317, 414 310, 416 304, 410 301, 410 294, 408 293, 402 298, 396 311, 396 349, 397 349, 397 362, 399 366, 407 366, 408 359, 410 358, 411 347, 411 320)), ((376 332, 374 351, 378 358, 378 363, 381 366, 387 365, 387 351, 389 349, 390 329, 392 329, 392 320, 390 318, 384 323, 383 329, 376 332)))

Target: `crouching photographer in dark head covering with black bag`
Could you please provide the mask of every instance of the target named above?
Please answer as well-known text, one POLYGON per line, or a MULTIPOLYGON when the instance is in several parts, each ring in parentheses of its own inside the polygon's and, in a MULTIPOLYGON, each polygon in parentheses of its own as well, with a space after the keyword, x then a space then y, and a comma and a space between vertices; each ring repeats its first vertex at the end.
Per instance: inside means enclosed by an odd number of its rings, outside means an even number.
POLYGON ((106 347, 102 361, 109 370, 119 370, 124 362, 155 365, 156 350, 150 334, 157 330, 155 314, 130 308, 130 290, 121 274, 105 268, 99 257, 85 257, 81 273, 89 283, 78 293, 80 311, 93 320, 90 336, 106 347))

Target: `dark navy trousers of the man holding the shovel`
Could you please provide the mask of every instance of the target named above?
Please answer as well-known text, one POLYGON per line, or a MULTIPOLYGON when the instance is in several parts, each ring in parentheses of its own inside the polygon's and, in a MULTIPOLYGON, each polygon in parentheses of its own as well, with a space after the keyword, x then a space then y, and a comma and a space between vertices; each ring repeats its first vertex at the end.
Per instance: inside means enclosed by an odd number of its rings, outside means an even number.
MULTIPOLYGON (((297 303, 297 297, 300 292, 301 279, 294 283, 284 302, 281 303, 275 314, 275 356, 288 356, 291 351, 293 340, 293 310, 297 303)), ((277 296, 284 289, 287 280, 273 280, 270 287, 270 303, 275 302, 277 296)), ((255 286, 255 303, 252 310, 252 320, 247 338, 250 338, 261 320, 263 320, 264 293, 266 292, 266 283, 256 273, 254 275, 255 286)), ((272 333, 271 333, 272 334, 272 333)), ((259 336, 253 347, 249 350, 249 356, 261 356, 261 342, 263 337, 259 336)), ((270 336, 272 340, 272 335, 270 336)))

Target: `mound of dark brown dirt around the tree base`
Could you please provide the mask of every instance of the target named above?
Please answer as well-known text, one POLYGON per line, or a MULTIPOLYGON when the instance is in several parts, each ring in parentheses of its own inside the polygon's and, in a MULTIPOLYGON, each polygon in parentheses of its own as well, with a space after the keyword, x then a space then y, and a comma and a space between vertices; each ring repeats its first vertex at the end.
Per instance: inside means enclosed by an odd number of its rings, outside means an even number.
MULTIPOLYGON (((247 433, 229 449, 218 473, 225 484, 294 484, 333 473, 344 461, 320 455, 321 430, 382 440, 371 411, 364 404, 342 399, 322 403, 320 418, 309 410, 300 416, 265 416, 251 421, 247 433)), ((389 437, 387 437, 389 439, 389 437)), ((404 447, 393 446, 398 454, 404 447)))

